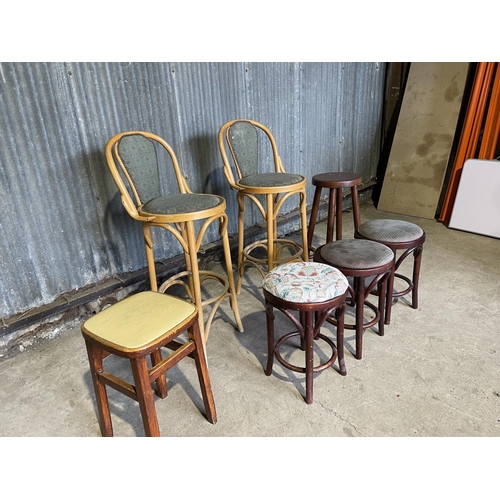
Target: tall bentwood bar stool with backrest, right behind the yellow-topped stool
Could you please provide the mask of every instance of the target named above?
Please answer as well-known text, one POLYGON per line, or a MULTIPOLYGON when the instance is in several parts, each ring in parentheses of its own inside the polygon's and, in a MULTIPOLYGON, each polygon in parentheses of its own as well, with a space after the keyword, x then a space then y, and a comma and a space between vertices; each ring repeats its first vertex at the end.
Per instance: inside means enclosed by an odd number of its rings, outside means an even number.
POLYGON ((189 299, 198 309, 200 331, 204 341, 208 338, 218 307, 226 298, 230 301, 236 327, 243 331, 227 234, 226 200, 215 194, 193 193, 171 146, 151 132, 130 131, 116 134, 106 145, 106 159, 120 191, 123 206, 133 219, 142 223, 151 290, 165 292, 172 285, 184 286, 189 299), (169 175, 170 172, 164 174, 166 182, 163 183, 160 182, 160 165, 167 172, 168 169, 173 171, 173 175, 169 175), (212 223, 218 223, 219 227, 226 264, 225 276, 210 270, 201 270, 198 266, 202 241, 212 223), (170 277, 159 287, 152 227, 165 229, 177 239, 186 263, 184 271, 170 277), (217 286, 212 287, 215 291, 210 296, 203 297, 202 285, 207 281, 217 286), (203 316, 205 306, 210 307, 206 319, 203 316))

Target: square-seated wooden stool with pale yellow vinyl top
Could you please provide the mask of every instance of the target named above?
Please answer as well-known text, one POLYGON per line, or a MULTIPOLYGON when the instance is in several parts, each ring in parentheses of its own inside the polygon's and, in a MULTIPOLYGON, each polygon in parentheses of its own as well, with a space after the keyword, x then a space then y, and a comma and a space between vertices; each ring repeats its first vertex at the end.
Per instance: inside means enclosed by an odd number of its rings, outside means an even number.
POLYGON ((159 292, 140 292, 113 304, 82 325, 90 372, 94 384, 99 425, 103 436, 113 436, 106 386, 113 387, 139 403, 146 436, 159 436, 152 382, 156 393, 167 396, 165 372, 186 356, 194 358, 207 420, 215 424, 217 415, 208 375, 198 311, 185 300, 159 292), (188 340, 178 337, 188 332, 188 340), (173 352, 162 359, 160 349, 173 352), (134 385, 104 369, 110 354, 130 360, 134 385), (148 367, 147 357, 152 367, 148 367))

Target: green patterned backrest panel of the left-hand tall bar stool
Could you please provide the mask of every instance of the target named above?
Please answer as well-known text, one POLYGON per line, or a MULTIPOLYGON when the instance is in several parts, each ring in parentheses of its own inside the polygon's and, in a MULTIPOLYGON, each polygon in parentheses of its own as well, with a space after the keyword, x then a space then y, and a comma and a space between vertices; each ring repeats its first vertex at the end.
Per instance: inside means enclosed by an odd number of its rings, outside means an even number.
POLYGON ((139 195, 139 204, 161 196, 158 158, 152 140, 141 134, 125 135, 118 143, 118 154, 139 195))

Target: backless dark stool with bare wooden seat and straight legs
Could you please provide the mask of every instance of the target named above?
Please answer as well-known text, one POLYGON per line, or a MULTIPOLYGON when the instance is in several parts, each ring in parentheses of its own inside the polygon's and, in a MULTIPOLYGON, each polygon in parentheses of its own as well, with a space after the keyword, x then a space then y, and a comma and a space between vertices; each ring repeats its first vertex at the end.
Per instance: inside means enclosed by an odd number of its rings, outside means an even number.
POLYGON ((351 188, 354 227, 357 228, 359 226, 358 185, 361 184, 361 180, 361 175, 349 172, 328 172, 326 174, 315 175, 312 178, 312 184, 313 186, 316 186, 316 190, 314 191, 311 218, 309 220, 309 228, 307 231, 309 249, 311 249, 311 243, 314 236, 314 227, 316 225, 316 218, 318 217, 318 209, 323 188, 330 190, 328 196, 326 243, 333 240, 334 222, 336 223, 336 239, 342 239, 342 189, 344 188, 351 188))

